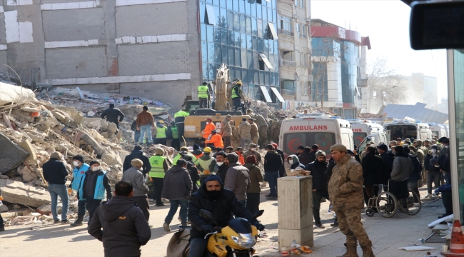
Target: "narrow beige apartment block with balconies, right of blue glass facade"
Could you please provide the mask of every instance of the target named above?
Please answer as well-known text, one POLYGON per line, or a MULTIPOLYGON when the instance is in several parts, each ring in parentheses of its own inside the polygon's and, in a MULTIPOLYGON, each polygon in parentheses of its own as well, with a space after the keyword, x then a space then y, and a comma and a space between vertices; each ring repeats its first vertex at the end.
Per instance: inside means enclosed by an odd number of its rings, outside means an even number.
POLYGON ((311 101, 311 1, 279 0, 277 11, 283 108, 293 109, 311 101))

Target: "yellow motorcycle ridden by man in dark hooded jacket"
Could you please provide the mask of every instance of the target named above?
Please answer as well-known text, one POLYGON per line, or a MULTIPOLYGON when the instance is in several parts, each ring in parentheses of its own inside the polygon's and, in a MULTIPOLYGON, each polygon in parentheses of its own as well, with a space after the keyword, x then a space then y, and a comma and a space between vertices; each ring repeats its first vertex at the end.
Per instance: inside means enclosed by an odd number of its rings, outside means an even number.
MULTIPOLYGON (((263 210, 256 211, 253 218, 258 218, 263 213, 263 210)), ((209 211, 200 210, 200 216, 216 223, 209 211)), ((206 234, 205 239, 209 237, 207 256, 252 257, 255 253, 253 246, 259 236, 258 229, 245 218, 234 218, 227 225, 216 232, 206 234)))

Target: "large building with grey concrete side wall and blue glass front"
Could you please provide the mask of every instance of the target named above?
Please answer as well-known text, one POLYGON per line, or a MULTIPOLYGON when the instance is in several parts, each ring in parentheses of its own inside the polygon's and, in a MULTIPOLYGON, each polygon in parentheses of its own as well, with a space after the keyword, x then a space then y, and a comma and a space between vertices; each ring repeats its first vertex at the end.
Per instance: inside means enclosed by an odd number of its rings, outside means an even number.
POLYGON ((276 8, 276 0, 3 0, 0 63, 26 84, 175 107, 225 63, 248 96, 280 103, 276 8))

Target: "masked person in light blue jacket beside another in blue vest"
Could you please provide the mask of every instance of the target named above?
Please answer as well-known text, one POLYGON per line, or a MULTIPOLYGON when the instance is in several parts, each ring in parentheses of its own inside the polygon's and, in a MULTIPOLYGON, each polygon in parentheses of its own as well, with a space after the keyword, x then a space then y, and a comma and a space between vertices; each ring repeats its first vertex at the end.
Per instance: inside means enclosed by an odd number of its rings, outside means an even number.
MULTIPOLYGON (((69 185, 74 191, 79 191, 79 186, 81 186, 81 181, 84 178, 84 174, 86 171, 89 171, 89 164, 84 163, 84 156, 76 155, 73 157, 73 180, 69 185)), ((77 203, 78 210, 77 211, 77 219, 71 226, 82 226, 82 220, 84 219, 84 215, 86 215, 86 200, 79 200, 77 203)))

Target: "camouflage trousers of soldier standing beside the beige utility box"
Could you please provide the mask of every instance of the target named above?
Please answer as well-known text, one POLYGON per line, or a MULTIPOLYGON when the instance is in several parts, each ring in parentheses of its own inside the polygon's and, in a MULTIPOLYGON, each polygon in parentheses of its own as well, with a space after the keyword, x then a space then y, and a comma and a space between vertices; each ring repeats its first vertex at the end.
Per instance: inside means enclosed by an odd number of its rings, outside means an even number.
POLYGON ((368 233, 365 232, 363 223, 361 223, 361 209, 350 208, 335 213, 338 227, 346 235, 347 246, 357 246, 357 241, 359 241, 360 246, 372 246, 368 233))

